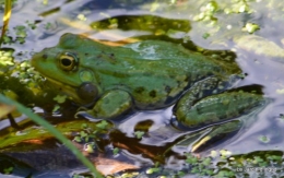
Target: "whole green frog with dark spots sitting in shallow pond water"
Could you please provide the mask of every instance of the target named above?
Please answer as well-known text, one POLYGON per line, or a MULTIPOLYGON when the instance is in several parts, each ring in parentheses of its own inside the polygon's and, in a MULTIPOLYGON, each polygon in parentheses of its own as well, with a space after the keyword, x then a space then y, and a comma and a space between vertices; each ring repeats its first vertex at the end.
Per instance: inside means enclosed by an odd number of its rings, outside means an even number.
MULTIPOLYGON (((196 128, 250 112, 264 102, 259 94, 224 92, 241 72, 235 62, 161 40, 114 47, 64 34, 56 47, 36 54, 32 66, 75 103, 93 104, 88 112, 95 118, 175 104, 177 121, 196 128)), ((222 126, 227 132, 239 122, 222 126)))

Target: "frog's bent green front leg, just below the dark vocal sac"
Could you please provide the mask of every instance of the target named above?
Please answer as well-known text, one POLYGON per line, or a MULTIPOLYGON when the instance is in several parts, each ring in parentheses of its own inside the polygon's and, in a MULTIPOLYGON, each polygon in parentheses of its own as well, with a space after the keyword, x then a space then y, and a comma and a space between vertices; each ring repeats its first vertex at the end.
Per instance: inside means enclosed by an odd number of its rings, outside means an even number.
POLYGON ((116 118, 132 107, 130 94, 121 90, 106 92, 95 104, 92 110, 87 112, 95 118, 116 118))

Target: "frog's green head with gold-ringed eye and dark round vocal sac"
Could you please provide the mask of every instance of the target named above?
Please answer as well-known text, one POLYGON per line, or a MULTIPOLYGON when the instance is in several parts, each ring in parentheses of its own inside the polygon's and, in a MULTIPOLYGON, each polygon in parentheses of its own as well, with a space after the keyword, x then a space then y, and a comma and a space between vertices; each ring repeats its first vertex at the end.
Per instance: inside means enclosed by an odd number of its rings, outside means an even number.
POLYGON ((99 91, 92 69, 84 62, 84 51, 79 48, 84 40, 84 37, 64 34, 57 46, 45 48, 32 59, 32 66, 40 74, 80 104, 93 102, 99 91))

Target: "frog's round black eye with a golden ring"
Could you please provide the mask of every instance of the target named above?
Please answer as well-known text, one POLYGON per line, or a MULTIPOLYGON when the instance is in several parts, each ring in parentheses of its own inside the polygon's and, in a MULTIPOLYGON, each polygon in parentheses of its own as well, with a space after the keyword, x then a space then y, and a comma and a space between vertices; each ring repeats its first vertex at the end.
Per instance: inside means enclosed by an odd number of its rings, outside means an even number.
POLYGON ((74 54, 66 52, 59 57, 59 66, 66 71, 74 70, 78 66, 78 58, 74 54))

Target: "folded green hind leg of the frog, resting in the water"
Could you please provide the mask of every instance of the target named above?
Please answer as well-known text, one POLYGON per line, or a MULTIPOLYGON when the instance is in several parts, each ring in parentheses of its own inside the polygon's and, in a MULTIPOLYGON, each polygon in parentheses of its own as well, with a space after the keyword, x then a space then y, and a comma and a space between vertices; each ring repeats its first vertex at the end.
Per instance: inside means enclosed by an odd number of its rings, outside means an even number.
POLYGON ((177 120, 188 128, 214 124, 221 121, 251 112, 265 104, 261 94, 233 91, 211 95, 202 99, 192 99, 186 94, 177 105, 177 120))

